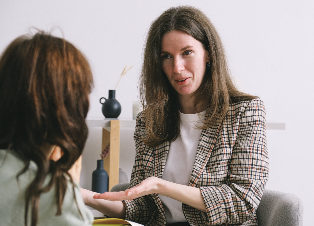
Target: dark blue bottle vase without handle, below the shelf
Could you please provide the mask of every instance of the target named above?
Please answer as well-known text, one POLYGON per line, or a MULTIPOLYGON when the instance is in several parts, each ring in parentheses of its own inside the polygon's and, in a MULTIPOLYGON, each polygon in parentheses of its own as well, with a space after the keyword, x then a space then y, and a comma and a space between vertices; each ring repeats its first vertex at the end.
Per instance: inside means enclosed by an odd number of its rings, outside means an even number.
POLYGON ((97 160, 97 169, 92 174, 92 191, 104 193, 108 191, 108 173, 104 170, 104 160, 97 160))

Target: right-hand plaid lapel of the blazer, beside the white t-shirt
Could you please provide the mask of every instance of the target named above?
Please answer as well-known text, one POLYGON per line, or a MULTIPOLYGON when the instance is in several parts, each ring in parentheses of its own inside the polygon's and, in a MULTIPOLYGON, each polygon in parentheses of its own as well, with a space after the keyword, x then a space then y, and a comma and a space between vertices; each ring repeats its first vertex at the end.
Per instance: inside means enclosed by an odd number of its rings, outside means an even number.
MULTIPOLYGON (((205 120, 209 117, 208 109, 205 120)), ((189 186, 191 187, 195 187, 197 185, 198 179, 200 178, 203 170, 206 168, 208 159, 216 143, 221 124, 222 120, 217 121, 213 126, 209 127, 208 129, 202 130, 189 183, 189 186)))

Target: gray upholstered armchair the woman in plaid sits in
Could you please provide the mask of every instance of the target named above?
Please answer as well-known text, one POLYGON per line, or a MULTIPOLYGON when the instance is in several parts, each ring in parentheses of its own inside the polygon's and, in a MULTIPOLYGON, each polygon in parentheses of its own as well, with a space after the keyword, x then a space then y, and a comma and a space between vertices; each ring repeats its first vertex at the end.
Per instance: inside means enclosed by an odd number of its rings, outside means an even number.
MULTIPOLYGON (((111 191, 124 191, 129 183, 118 184, 111 191)), ((265 189, 256 210, 258 226, 302 226, 303 204, 295 195, 265 189)))

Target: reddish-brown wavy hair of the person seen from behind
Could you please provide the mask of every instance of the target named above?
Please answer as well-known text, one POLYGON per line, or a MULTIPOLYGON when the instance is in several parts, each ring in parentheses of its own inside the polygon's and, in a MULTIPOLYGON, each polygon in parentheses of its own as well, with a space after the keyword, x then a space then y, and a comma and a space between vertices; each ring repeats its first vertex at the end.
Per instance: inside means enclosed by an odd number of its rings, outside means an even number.
POLYGON ((0 147, 14 150, 25 161, 17 179, 30 161, 38 167, 25 194, 25 225, 29 208, 31 225, 36 225, 40 195, 52 186, 56 187, 56 214, 61 214, 65 174, 70 176, 68 170, 87 139, 85 118, 92 86, 89 63, 62 38, 41 31, 20 36, 1 55, 0 147), (47 160, 40 148, 44 144, 59 146, 63 156, 57 162, 47 160), (49 173, 50 183, 43 186, 49 173))

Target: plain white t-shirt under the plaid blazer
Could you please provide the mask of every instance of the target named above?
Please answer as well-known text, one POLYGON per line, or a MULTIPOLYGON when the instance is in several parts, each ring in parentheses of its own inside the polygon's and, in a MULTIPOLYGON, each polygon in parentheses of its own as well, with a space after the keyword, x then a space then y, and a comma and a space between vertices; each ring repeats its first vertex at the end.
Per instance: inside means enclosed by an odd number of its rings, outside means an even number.
MULTIPOLYGON (((196 126, 203 126, 206 111, 196 114, 180 112, 180 134, 171 142, 165 169, 161 179, 176 184, 189 185, 193 170, 196 151, 202 130, 196 126)), ((165 209, 166 222, 186 222, 182 210, 182 202, 166 196, 159 196, 165 209)))

